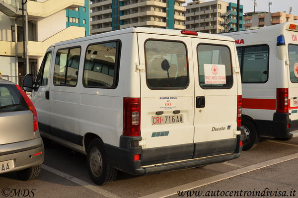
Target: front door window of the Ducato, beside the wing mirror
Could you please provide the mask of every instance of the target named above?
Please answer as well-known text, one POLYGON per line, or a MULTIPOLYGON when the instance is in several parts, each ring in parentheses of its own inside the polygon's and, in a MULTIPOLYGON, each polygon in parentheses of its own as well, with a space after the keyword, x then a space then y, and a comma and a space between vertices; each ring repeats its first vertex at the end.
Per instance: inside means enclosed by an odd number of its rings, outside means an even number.
POLYGON ((48 84, 51 57, 51 52, 46 53, 36 77, 36 88, 48 84))

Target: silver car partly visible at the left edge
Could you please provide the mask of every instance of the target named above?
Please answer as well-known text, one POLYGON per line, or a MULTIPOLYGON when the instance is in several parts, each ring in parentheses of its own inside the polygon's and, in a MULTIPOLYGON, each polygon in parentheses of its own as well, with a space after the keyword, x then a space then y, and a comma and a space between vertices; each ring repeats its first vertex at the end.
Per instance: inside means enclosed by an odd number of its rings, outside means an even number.
POLYGON ((21 180, 34 179, 43 160, 33 103, 18 85, 0 78, 0 174, 16 171, 21 180))

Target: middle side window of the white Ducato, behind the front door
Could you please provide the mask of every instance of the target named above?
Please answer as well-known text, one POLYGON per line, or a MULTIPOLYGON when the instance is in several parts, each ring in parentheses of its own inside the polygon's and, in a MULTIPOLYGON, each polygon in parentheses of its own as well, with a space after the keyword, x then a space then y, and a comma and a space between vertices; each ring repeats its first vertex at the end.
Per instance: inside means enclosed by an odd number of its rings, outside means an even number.
POLYGON ((76 85, 80 51, 79 47, 57 51, 54 67, 54 85, 76 85))

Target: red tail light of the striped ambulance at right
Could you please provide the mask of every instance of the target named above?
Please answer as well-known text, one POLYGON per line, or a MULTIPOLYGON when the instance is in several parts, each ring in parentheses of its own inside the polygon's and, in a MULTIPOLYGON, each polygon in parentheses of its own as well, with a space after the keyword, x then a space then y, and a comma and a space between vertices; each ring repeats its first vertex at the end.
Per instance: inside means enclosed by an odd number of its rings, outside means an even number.
POLYGON ((288 97, 289 97, 288 88, 276 89, 276 112, 289 113, 288 97))

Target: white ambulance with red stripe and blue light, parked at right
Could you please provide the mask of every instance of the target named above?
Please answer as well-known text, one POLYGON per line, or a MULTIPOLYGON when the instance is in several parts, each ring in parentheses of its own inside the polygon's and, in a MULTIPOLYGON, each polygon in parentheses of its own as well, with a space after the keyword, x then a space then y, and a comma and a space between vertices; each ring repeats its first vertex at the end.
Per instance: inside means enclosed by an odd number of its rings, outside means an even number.
POLYGON ((224 35, 235 40, 241 68, 243 150, 260 135, 292 138, 298 130, 298 24, 224 35))

